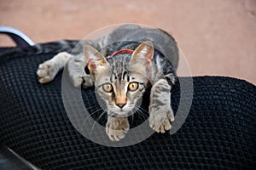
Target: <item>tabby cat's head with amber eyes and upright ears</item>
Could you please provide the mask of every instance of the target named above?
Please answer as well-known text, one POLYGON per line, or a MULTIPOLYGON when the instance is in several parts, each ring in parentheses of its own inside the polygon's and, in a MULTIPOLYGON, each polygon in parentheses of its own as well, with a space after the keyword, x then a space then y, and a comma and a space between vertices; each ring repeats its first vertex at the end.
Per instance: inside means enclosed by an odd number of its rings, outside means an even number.
POLYGON ((145 92, 153 62, 152 42, 141 43, 132 54, 107 59, 89 45, 84 46, 87 67, 98 94, 106 101, 108 114, 127 116, 145 92))

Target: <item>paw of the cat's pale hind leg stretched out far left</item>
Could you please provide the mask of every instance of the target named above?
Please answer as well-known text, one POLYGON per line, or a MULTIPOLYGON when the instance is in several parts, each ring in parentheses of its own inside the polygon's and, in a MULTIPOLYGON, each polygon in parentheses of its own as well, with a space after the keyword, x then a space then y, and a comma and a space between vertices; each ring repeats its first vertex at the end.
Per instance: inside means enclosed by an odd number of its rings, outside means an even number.
POLYGON ((38 81, 41 83, 47 83, 55 78, 57 73, 56 65, 53 61, 47 60, 38 66, 38 81))

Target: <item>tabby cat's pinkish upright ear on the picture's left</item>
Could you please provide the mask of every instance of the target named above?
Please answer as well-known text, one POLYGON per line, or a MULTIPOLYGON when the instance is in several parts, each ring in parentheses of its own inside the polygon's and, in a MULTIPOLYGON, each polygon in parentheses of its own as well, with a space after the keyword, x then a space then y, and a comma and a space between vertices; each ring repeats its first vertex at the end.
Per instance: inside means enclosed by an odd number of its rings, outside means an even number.
POLYGON ((108 65, 108 61, 105 57, 96 50, 96 48, 91 47, 90 45, 84 45, 84 57, 87 61, 87 67, 90 71, 90 74, 96 76, 103 67, 108 65))

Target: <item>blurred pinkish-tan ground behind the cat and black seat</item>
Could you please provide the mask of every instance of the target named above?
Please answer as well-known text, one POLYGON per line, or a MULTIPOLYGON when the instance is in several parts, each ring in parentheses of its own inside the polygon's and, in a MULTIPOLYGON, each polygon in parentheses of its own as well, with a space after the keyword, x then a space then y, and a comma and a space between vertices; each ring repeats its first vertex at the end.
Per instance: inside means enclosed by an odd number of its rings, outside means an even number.
MULTIPOLYGON (((0 26, 15 27, 34 42, 82 39, 119 23, 170 32, 194 76, 238 77, 256 84, 255 0, 0 0, 0 26)), ((0 35, 0 46, 12 44, 0 35)))

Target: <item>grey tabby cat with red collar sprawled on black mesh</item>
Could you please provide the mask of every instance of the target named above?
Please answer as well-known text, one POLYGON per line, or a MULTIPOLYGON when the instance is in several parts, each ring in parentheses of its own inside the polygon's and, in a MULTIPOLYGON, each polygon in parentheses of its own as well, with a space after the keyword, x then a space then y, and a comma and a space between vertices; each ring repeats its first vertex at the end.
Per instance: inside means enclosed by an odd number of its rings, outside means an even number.
POLYGON ((85 40, 73 53, 61 52, 38 66, 47 83, 66 65, 74 87, 96 87, 108 106, 106 133, 119 141, 129 130, 128 113, 150 88, 149 126, 165 133, 172 126, 171 89, 177 78, 177 43, 166 31, 120 26, 96 41, 85 40), (168 55, 168 56, 165 56, 168 55))

